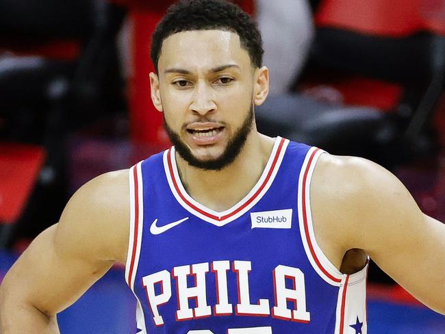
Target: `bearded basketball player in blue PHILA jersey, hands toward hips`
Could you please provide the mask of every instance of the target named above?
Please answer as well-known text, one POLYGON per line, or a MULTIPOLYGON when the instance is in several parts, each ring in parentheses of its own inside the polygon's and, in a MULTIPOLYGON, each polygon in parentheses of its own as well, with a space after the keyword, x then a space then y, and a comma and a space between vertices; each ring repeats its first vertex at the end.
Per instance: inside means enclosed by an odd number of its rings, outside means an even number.
POLYGON ((119 261, 138 333, 366 333, 368 255, 445 313, 445 226, 365 159, 268 138, 261 38, 221 0, 170 8, 151 99, 174 147, 93 179, 1 287, 3 334, 56 313, 119 261))

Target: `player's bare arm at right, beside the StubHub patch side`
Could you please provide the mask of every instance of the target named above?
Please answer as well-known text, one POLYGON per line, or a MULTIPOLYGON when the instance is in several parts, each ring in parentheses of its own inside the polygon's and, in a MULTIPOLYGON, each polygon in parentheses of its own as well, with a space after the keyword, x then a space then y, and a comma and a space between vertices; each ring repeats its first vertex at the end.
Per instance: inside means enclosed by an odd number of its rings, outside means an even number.
POLYGON ((362 249, 418 300, 445 313, 445 224, 423 214, 401 181, 368 160, 324 154, 311 191, 318 223, 331 227, 318 231, 336 245, 328 250, 333 262, 335 254, 362 249))

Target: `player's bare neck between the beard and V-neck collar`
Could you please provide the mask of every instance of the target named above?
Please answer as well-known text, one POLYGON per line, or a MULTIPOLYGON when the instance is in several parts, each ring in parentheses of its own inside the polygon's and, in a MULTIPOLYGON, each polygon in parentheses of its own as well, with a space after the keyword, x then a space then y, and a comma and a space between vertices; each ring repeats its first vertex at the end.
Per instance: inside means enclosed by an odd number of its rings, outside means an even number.
POLYGON ((275 140, 252 131, 240 154, 222 170, 202 170, 189 166, 176 153, 181 181, 195 201, 225 211, 249 194, 268 162, 275 140))

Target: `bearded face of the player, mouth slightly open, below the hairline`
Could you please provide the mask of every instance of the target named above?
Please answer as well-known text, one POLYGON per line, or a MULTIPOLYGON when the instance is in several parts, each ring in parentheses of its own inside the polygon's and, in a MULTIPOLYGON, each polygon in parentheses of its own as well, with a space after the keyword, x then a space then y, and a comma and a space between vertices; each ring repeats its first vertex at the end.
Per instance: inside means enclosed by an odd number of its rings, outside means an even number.
POLYGON ((183 31, 162 44, 152 99, 188 164, 218 170, 233 162, 253 129, 257 70, 238 34, 183 31), (153 97, 155 94, 155 97, 153 97))

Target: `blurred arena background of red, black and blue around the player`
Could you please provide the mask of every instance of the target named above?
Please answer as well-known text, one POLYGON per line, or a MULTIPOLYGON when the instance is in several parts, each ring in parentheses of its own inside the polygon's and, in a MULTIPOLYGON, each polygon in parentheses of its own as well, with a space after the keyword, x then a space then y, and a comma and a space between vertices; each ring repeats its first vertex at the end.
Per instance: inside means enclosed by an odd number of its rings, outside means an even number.
MULTIPOLYGON (((0 1, 0 281, 82 184, 169 146, 148 74, 173 2, 0 1)), ((259 131, 372 159, 445 221, 445 0, 233 2, 264 38, 259 131)), ((374 264, 369 276, 370 333, 445 333, 374 264)), ((62 333, 133 331, 123 285, 114 268, 62 313, 62 333)))

